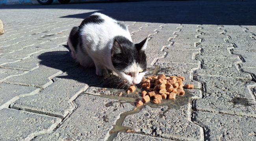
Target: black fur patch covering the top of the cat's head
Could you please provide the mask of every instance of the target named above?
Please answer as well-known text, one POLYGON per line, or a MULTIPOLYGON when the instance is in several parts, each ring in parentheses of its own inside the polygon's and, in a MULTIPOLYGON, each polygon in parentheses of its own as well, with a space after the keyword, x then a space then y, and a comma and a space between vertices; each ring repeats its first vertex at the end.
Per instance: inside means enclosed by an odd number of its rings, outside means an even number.
POLYGON ((114 40, 117 40, 121 45, 121 53, 113 54, 111 58, 115 69, 123 72, 128 65, 135 61, 144 71, 147 70, 146 54, 144 51, 137 50, 137 44, 135 45, 123 36, 116 36, 114 40))

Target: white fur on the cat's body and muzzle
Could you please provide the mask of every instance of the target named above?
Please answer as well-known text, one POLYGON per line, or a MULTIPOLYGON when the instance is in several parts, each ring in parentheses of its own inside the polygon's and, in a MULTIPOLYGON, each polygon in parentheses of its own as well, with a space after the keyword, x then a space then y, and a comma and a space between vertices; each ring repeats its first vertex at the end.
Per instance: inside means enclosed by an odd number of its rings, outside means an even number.
MULTIPOLYGON (((108 74, 108 69, 117 72, 122 78, 128 80, 130 84, 139 83, 145 73, 138 72, 141 68, 136 63, 132 64, 129 69, 126 70, 132 73, 131 77, 116 70, 111 61, 113 38, 115 36, 124 36, 132 42, 130 32, 122 29, 122 27, 115 23, 117 22, 116 20, 104 14, 94 13, 93 15, 100 16, 104 19, 104 22, 102 24, 86 24, 82 27, 82 34, 80 36, 82 36, 83 51, 81 51, 80 47, 77 47, 77 51, 75 51, 70 40, 68 40, 73 58, 84 67, 91 67, 94 64, 96 74, 99 76, 108 74)), ((78 45, 80 44, 78 43, 78 45)), ((146 49, 145 45, 143 49, 146 49)))

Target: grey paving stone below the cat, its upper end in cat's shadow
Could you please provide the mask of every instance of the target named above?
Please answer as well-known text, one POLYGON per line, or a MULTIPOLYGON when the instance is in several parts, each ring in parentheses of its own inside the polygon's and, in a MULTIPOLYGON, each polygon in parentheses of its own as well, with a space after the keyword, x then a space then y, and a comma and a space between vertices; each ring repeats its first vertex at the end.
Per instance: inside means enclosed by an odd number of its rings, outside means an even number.
MULTIPOLYGON (((86 71, 80 72, 82 73, 86 71)), ((85 91, 89 85, 99 85, 103 81, 103 79, 93 77, 95 75, 87 77, 80 74, 61 74, 55 77, 54 82, 39 94, 20 98, 11 107, 63 118, 75 108, 72 101, 78 94, 85 91)))

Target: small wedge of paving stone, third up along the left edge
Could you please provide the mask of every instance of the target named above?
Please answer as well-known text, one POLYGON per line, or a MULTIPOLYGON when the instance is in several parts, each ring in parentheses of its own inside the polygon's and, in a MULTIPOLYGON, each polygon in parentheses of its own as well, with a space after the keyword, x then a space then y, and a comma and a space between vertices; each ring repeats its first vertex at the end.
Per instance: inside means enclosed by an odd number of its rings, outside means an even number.
POLYGON ((15 69, 3 69, 0 68, 0 82, 12 77, 12 76, 18 76, 24 73, 27 73, 28 71, 21 71, 21 70, 15 70, 15 69))

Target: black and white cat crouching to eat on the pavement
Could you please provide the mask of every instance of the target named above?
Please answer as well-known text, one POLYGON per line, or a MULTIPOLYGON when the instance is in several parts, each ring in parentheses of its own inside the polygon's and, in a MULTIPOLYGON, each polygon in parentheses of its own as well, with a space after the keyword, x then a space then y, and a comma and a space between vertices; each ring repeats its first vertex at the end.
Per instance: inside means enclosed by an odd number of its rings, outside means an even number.
POLYGON ((73 27, 68 40, 72 57, 98 76, 115 71, 130 85, 141 82, 147 70, 147 38, 134 44, 124 24, 101 13, 91 14, 73 27))

